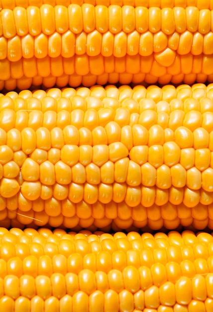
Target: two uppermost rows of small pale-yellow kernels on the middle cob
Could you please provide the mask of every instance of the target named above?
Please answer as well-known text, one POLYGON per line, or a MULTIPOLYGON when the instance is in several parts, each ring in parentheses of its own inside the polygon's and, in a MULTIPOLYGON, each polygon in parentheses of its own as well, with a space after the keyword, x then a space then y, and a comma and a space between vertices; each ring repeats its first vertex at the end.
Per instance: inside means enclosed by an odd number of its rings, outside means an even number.
MULTIPOLYGON (((34 91, 23 90, 18 93, 11 91, 5 94, 0 93, 0 111, 7 108, 15 111, 35 109, 41 110, 43 113, 49 110, 57 113, 62 110, 72 112, 74 109, 81 109, 85 112, 90 108, 95 108, 98 111, 104 107, 111 107, 115 110, 123 106, 123 101, 129 99, 136 100, 138 103, 141 100, 147 102, 148 105, 146 106, 146 103, 144 103, 141 110, 151 109, 158 113, 166 110, 167 113, 170 113, 178 109, 184 110, 186 113, 199 111, 203 114, 204 112, 213 112, 213 84, 196 83, 192 86, 185 84, 177 87, 173 85, 163 87, 151 85, 147 88, 141 85, 133 88, 128 85, 120 87, 94 85, 91 88, 52 88, 46 91, 37 89, 34 91), (61 98, 63 98, 63 101, 61 98), (36 99, 40 100, 40 102, 36 99), (155 104, 153 104, 153 101, 155 104), (165 101, 170 104, 170 109, 165 101), (158 102, 161 103, 156 106, 158 102)), ((133 110, 136 109, 137 106, 134 106, 133 110)), ((130 107, 129 111, 132 113, 130 107)), ((136 112, 141 113, 140 110, 136 112)))

